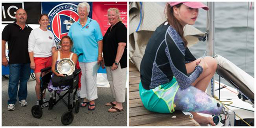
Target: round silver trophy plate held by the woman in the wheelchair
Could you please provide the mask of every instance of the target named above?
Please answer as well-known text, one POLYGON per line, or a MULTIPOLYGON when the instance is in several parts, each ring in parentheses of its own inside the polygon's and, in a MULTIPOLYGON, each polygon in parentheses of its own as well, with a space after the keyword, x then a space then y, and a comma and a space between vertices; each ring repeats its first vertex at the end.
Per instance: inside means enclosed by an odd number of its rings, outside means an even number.
POLYGON ((57 71, 59 74, 72 75, 75 71, 75 63, 69 58, 61 59, 57 63, 57 71))

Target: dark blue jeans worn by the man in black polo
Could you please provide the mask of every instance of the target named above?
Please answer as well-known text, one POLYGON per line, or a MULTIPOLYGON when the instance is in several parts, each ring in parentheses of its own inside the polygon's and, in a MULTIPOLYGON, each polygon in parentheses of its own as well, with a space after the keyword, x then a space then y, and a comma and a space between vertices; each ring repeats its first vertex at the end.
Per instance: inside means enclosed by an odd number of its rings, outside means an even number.
POLYGON ((20 88, 18 92, 19 101, 26 100, 27 98, 27 81, 30 77, 30 63, 27 64, 10 64, 10 75, 9 75, 9 88, 8 104, 15 104, 18 86, 20 82, 20 88))

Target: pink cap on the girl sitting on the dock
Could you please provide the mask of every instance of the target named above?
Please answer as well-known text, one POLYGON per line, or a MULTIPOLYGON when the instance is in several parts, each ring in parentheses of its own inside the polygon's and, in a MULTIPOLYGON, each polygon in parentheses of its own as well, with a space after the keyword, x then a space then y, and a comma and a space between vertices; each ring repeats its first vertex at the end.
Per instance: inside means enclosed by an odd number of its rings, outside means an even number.
POLYGON ((171 5, 171 7, 182 3, 191 8, 203 8, 206 11, 209 10, 209 7, 207 5, 204 5, 201 2, 168 2, 168 3, 171 5))

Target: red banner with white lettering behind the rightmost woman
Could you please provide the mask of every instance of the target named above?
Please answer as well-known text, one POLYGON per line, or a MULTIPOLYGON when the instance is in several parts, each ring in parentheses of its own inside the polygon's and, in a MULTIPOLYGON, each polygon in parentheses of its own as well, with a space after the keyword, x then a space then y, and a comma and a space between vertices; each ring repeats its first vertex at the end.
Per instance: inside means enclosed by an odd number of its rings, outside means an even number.
POLYGON ((109 8, 119 9, 120 18, 123 24, 127 27, 127 2, 93 2, 92 5, 92 18, 100 24, 103 36, 111 26, 107 17, 107 10, 109 8))

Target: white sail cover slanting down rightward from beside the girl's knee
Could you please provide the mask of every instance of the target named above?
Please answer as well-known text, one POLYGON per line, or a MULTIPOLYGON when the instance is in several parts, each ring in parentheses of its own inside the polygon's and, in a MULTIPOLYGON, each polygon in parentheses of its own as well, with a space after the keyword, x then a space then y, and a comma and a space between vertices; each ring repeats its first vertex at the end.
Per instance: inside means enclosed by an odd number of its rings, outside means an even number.
POLYGON ((216 55, 215 59, 218 61, 218 64, 221 67, 234 74, 254 93, 254 78, 251 75, 247 74, 244 70, 240 69, 235 64, 230 62, 228 59, 225 59, 220 55, 216 55))

